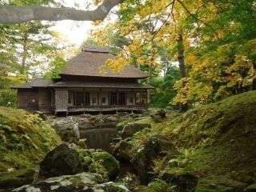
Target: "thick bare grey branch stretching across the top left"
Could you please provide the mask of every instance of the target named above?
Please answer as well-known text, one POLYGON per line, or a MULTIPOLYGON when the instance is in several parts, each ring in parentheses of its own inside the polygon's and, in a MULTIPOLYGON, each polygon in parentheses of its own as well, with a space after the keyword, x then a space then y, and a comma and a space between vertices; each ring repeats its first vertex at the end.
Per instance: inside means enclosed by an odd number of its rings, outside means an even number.
POLYGON ((74 21, 102 20, 110 10, 125 0, 106 0, 96 10, 76 10, 73 8, 46 6, 0 6, 0 23, 14 24, 31 20, 74 21))

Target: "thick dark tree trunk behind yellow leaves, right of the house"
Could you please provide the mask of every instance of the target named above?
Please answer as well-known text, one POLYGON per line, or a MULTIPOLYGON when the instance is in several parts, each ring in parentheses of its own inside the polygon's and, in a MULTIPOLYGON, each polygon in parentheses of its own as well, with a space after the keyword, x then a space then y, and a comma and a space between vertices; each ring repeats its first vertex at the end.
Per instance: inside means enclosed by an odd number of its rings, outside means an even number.
MULTIPOLYGON (((178 68, 181 75, 181 78, 186 78, 186 67, 185 67, 185 61, 184 61, 184 45, 183 45, 183 38, 182 34, 178 35, 177 38, 177 47, 178 47, 178 68)), ((185 86, 185 85, 184 85, 185 86)), ((180 111, 184 112, 188 110, 188 104, 181 104, 180 111)))

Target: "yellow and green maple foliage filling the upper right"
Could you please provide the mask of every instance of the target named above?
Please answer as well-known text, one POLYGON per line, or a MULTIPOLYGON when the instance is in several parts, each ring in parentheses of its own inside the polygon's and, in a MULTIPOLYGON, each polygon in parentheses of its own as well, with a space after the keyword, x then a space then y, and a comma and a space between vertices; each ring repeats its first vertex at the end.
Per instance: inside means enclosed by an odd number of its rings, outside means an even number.
POLYGON ((243 0, 130 0, 117 21, 103 22, 92 37, 118 47, 122 59, 108 62, 115 70, 127 63, 155 68, 164 47, 181 76, 172 103, 207 103, 255 89, 254 8, 254 1, 243 0))

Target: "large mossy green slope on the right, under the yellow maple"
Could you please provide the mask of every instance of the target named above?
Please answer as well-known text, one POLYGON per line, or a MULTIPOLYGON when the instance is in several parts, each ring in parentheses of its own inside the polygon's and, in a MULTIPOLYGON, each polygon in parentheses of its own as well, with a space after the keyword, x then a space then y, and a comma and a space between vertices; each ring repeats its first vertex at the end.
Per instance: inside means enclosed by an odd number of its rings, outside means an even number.
POLYGON ((256 178, 256 91, 198 106, 185 114, 171 113, 162 122, 150 117, 152 130, 134 135, 134 153, 151 135, 173 141, 182 155, 178 162, 199 177, 227 175, 242 182, 256 178))

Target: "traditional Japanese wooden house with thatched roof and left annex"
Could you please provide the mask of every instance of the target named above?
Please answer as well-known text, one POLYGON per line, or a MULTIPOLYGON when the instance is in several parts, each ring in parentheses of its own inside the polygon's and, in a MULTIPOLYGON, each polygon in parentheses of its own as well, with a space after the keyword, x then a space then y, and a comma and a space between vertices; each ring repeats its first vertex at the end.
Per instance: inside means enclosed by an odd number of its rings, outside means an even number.
POLYGON ((139 83, 148 75, 134 66, 114 73, 102 66, 114 58, 105 48, 84 47, 70 59, 59 79, 32 79, 18 90, 18 107, 27 110, 54 112, 86 112, 107 110, 146 110, 147 90, 153 88, 139 83))

